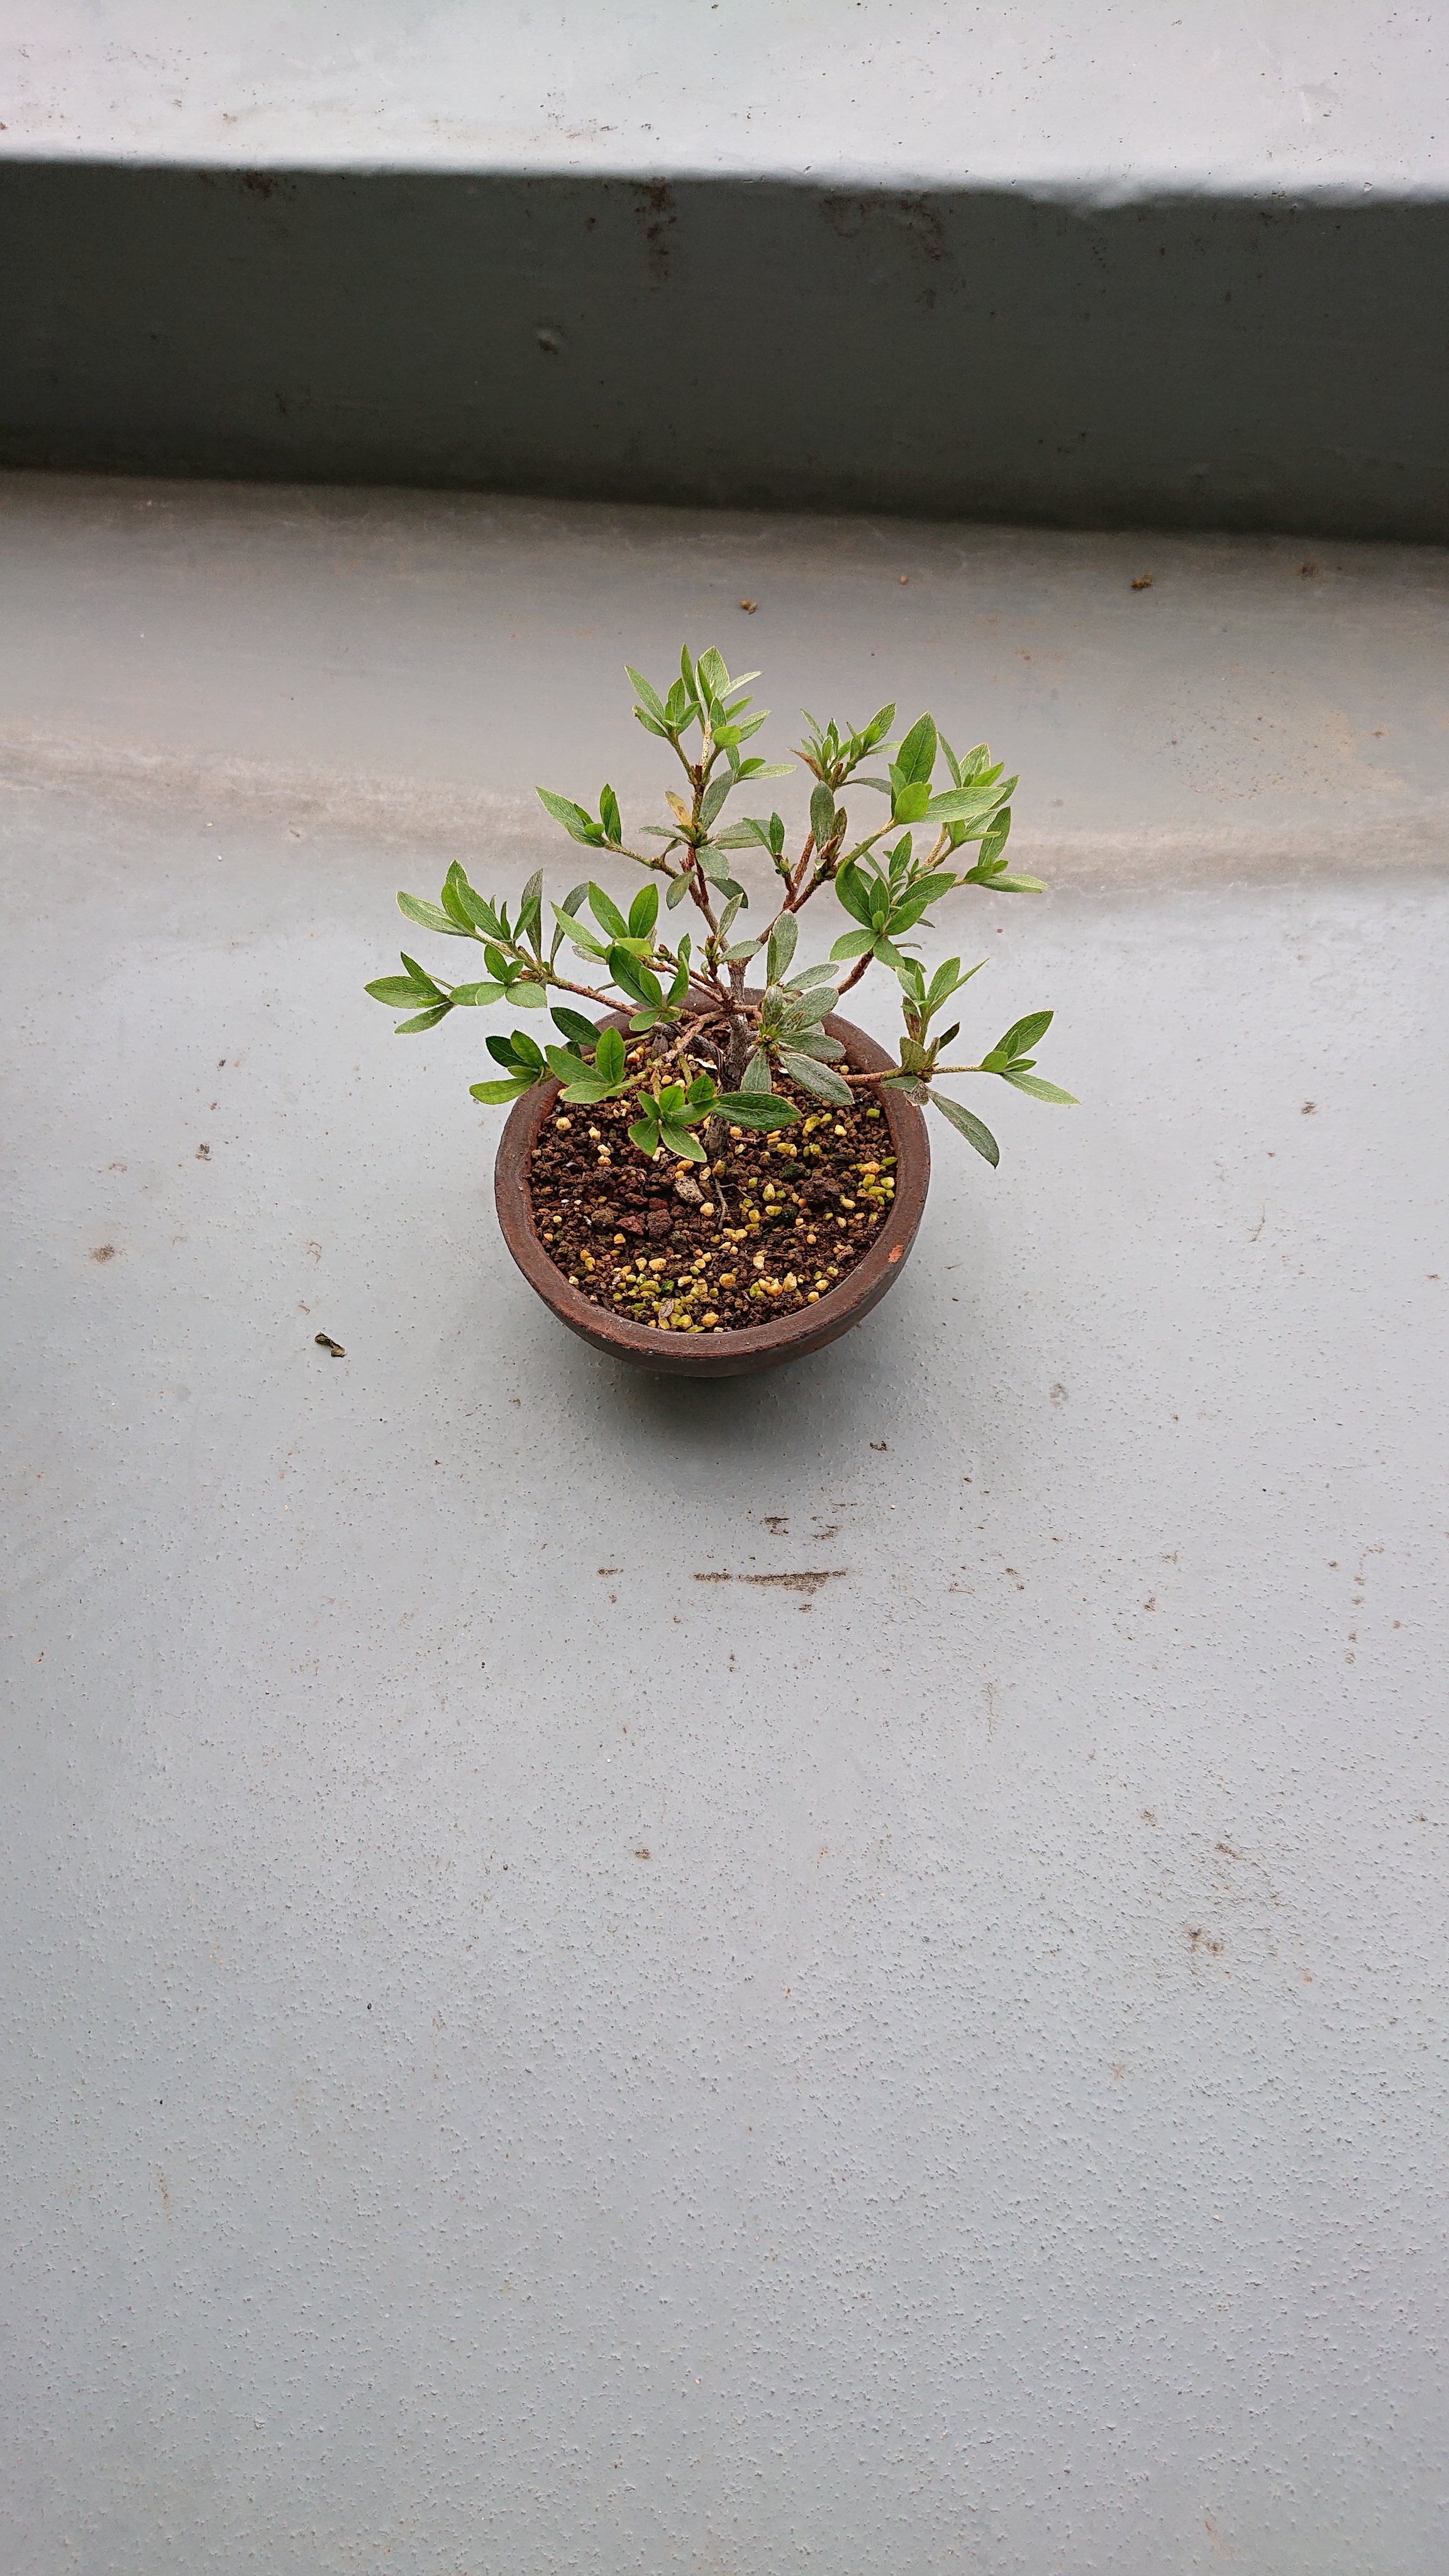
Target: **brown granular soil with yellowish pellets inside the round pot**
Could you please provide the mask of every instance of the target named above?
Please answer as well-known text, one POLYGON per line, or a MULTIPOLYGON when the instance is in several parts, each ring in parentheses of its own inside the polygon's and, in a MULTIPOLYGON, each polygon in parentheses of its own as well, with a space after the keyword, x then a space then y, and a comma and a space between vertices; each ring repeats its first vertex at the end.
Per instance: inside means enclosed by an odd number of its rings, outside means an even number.
POLYGON ((714 1162, 650 1162, 627 1103, 557 1108, 529 1167, 539 1242, 593 1306, 660 1332, 740 1332, 851 1275, 895 1195, 884 1110, 830 1110, 786 1082, 799 1126, 732 1131, 714 1162), (681 1182, 683 1193, 681 1195, 681 1182))

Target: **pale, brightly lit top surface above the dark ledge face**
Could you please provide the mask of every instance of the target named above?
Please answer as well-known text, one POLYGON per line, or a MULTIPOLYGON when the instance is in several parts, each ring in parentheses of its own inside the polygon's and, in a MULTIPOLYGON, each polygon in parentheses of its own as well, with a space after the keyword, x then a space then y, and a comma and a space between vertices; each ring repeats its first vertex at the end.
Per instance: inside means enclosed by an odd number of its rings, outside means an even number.
POLYGON ((810 173, 1114 198, 1441 191, 1441 10, 1356 0, 46 0, 0 152, 810 173))

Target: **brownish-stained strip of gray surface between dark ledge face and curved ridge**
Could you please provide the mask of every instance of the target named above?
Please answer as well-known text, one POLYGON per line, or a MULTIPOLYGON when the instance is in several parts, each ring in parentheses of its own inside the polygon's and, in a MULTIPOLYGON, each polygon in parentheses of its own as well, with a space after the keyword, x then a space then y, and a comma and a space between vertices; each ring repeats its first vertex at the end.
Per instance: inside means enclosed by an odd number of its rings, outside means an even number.
POLYGON ((1055 881, 1449 848, 1441 549, 44 474, 0 477, 0 546, 5 773, 302 848, 557 863, 534 783, 657 799, 624 659, 686 636, 761 665, 779 747, 887 696, 985 734, 1055 881))

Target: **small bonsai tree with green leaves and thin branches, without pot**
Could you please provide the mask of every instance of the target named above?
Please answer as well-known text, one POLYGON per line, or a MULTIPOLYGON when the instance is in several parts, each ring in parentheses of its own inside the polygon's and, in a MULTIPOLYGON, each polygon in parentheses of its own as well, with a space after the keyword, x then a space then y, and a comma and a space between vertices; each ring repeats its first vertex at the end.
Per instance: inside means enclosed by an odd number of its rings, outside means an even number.
MULTIPOLYGON (((629 909, 585 878, 562 904, 547 907, 552 920, 544 922, 539 871, 511 917, 505 902, 482 896, 454 863, 436 904, 415 894, 400 894, 397 904, 423 930, 480 943, 487 971, 477 981, 443 984, 405 953, 402 974, 366 987, 376 1002, 407 1012, 397 1023, 400 1036, 436 1028, 454 1010, 508 1005, 513 1012, 549 1012, 552 1041, 547 1025, 539 1036, 511 1028, 487 1038, 498 1074, 472 1084, 474 1100, 518 1100, 534 1084, 557 1079, 565 1103, 596 1113, 608 1105, 611 1126, 624 1123, 650 1162, 714 1162, 719 1175, 732 1141, 748 1131, 797 1126, 810 1100, 843 1113, 895 1087, 936 1108, 990 1164, 998 1162, 995 1136, 938 1087, 944 1079, 987 1074, 1034 1100, 1073 1105, 1070 1092, 1034 1069, 1034 1048, 1052 1025, 1049 1010, 1013 1020, 975 1061, 941 1061, 959 1038, 959 1020, 949 1028, 936 1023, 985 958, 964 971, 959 958, 946 958, 926 976, 915 956, 918 933, 931 927, 928 907, 957 886, 1042 891, 1039 878, 1008 868, 1016 778, 1003 778, 1003 762, 993 762, 985 742, 957 757, 931 716, 918 716, 900 742, 890 742, 895 706, 882 706, 859 732, 835 721, 822 726, 807 714, 797 757, 815 783, 810 829, 792 855, 779 814, 727 817, 740 791, 794 770, 792 762, 745 755, 766 724, 766 714, 750 714, 748 683, 758 672, 732 680, 712 647, 696 662, 681 654, 678 680, 665 696, 637 670, 629 680, 634 721, 668 744, 681 773, 678 786, 665 788, 668 822, 639 827, 637 837, 655 848, 642 850, 624 837, 611 786, 601 788, 598 814, 552 788, 536 791, 580 848, 647 871, 629 909), (884 762, 884 775, 866 770, 871 760, 884 762), (846 793, 856 788, 882 796, 887 806, 884 822, 871 822, 866 832, 851 829, 846 811, 846 793), (732 873, 743 850, 761 853, 776 878, 773 914, 758 930, 745 927, 750 896, 732 873), (843 927, 825 958, 799 963, 799 920, 825 886, 843 927), (673 912, 683 922, 670 938, 673 912), (758 989, 748 984, 753 966, 763 971, 758 989), (900 992, 897 1056, 884 1072, 848 1069, 846 1048, 822 1028, 869 969, 884 969, 900 992), (627 1015, 629 1036, 588 1018, 580 1002, 627 1015)), ((567 1115, 559 1123, 570 1126, 567 1115)), ((820 1118, 807 1123, 822 1126, 820 1118)), ((598 1128, 590 1133, 603 1136, 598 1128)))

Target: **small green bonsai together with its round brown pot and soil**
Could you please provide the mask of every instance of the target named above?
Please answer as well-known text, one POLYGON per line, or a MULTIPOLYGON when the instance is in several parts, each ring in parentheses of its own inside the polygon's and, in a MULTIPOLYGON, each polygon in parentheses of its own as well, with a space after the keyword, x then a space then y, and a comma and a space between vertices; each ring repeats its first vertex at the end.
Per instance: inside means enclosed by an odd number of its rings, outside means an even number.
POLYGON ((624 837, 611 786, 598 814, 539 788, 570 840, 647 871, 629 909, 590 878, 544 907, 539 871, 508 914, 451 866, 436 904, 397 904, 423 930, 480 943, 485 976, 443 984, 405 953, 402 974, 366 989, 405 1010, 400 1036, 454 1010, 539 1015, 539 1036, 516 1025, 487 1038, 498 1072, 472 1084, 474 1100, 513 1105, 495 1167, 508 1249, 596 1347, 678 1376, 735 1376, 846 1332, 897 1278, 931 1177, 923 1108, 998 1162, 995 1136, 944 1079, 987 1074, 1067 1105, 1073 1095, 1034 1069, 1049 1010, 1016 1020, 977 1061, 941 1061, 959 1020, 938 1023, 977 966, 946 958, 926 974, 915 933, 931 927, 928 907, 957 886, 1039 891, 1039 878, 1008 871, 1016 778, 985 742, 959 760, 931 716, 892 742, 895 706, 861 732, 807 716, 797 757, 812 778, 810 827, 792 853, 779 814, 727 814, 740 788, 794 768, 745 752, 766 721, 748 696, 758 672, 732 680, 709 649, 681 654, 665 696, 637 670, 629 680, 634 719, 681 770, 668 822, 637 835, 652 848, 624 837), (887 804, 864 832, 846 814, 856 788, 887 804), (740 853, 773 876, 758 930, 740 853), (843 922, 828 958, 802 963, 802 912, 825 889, 843 922), (838 1012, 871 969, 900 994, 895 1056, 838 1012))

